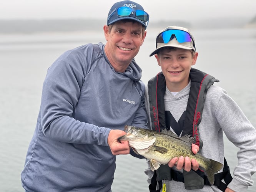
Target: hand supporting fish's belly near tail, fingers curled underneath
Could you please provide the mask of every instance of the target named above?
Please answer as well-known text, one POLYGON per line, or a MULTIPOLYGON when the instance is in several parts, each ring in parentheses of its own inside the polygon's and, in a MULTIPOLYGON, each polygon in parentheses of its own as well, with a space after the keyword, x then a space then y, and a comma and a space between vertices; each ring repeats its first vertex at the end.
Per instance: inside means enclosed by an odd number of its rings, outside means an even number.
MULTIPOLYGON (((199 151, 199 147, 195 144, 192 144, 192 152, 194 154, 197 154, 198 151, 199 151)), ((179 158, 175 157, 171 159, 171 161, 168 163, 169 167, 173 167, 175 165, 178 170, 181 170, 183 168, 187 172, 191 170, 191 166, 193 170, 198 170, 199 168, 199 164, 195 159, 191 159, 190 161, 189 157, 184 158, 183 156, 180 156, 179 158)))

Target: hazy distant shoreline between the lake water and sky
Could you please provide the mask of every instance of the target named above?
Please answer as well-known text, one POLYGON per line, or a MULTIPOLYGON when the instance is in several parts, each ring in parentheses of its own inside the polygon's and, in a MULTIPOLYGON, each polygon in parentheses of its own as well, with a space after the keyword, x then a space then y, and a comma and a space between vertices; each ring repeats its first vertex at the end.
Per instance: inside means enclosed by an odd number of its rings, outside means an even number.
MULTIPOLYGON (((0 33, 35 33, 35 32, 71 32, 85 30, 101 30, 105 20, 70 19, 70 20, 0 20, 0 33)), ((150 28, 165 28, 176 25, 186 28, 231 28, 256 27, 256 17, 249 18, 216 18, 211 20, 150 22, 150 28)))

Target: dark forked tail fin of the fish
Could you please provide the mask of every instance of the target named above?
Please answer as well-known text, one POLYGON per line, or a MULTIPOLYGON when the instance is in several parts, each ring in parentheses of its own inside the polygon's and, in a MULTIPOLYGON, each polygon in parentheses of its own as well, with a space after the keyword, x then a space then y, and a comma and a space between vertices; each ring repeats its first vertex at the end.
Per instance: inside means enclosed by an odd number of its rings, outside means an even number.
POLYGON ((214 184, 214 174, 221 170, 222 167, 223 164, 212 159, 209 159, 207 166, 204 167, 205 173, 211 185, 214 184))

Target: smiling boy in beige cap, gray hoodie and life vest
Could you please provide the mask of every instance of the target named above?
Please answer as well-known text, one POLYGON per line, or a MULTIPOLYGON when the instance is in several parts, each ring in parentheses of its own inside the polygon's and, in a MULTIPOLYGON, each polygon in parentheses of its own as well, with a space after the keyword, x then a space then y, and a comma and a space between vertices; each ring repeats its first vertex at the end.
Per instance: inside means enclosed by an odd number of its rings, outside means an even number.
MULTIPOLYGON (((256 131, 226 91, 213 85, 218 79, 191 68, 196 64, 198 53, 190 31, 179 26, 160 31, 152 55, 162 72, 150 79, 146 91, 150 129, 166 128, 178 136, 190 134, 196 137, 199 153, 224 165, 223 172, 215 174, 211 186, 201 170, 182 171, 169 162, 172 168, 161 166, 155 173, 160 188, 162 181, 168 192, 248 189, 253 185, 251 175, 256 171, 256 131), (223 131, 229 141, 240 148, 233 179, 224 159, 223 131)), ((150 181, 153 172, 149 168, 145 173, 150 181)))

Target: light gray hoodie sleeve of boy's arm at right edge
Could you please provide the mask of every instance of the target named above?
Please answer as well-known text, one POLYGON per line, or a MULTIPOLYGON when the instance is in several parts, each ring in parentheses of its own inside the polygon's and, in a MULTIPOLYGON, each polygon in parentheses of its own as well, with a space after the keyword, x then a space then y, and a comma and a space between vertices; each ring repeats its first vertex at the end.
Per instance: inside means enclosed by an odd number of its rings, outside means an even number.
POLYGON ((238 164, 234 168, 234 178, 228 187, 235 191, 245 191, 248 186, 253 185, 251 175, 256 172, 256 130, 224 90, 216 117, 229 141, 239 148, 238 164))

